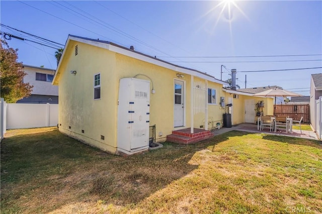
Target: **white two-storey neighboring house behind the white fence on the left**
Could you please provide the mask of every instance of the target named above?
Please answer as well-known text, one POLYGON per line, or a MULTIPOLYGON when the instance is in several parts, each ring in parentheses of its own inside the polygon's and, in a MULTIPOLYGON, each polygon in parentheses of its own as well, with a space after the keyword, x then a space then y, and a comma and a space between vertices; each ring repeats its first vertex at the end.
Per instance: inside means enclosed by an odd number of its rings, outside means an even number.
POLYGON ((31 65, 23 65, 27 75, 24 82, 29 82, 34 87, 31 95, 20 99, 17 103, 58 103, 58 86, 52 85, 52 79, 55 70, 36 67, 31 65))

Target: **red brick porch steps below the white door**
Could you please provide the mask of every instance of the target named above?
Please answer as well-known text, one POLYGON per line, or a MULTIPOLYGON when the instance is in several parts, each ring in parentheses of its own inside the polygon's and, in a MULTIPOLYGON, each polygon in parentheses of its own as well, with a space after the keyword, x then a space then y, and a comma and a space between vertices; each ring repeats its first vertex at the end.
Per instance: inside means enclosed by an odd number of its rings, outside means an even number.
POLYGON ((190 128, 173 131, 167 136, 167 141, 178 144, 192 144, 213 137, 210 131, 202 129, 194 129, 194 133, 190 133, 190 128))

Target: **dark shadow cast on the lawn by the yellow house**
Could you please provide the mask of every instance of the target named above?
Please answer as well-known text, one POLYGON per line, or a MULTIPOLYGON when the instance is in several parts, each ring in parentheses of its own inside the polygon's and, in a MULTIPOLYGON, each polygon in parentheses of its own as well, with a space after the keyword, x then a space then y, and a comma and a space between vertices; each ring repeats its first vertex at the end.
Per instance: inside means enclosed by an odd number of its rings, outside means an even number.
POLYGON ((193 155, 227 136, 194 145, 165 142, 162 149, 129 157, 104 153, 57 129, 7 137, 1 143, 1 208, 48 212, 80 201, 138 203, 197 169, 189 163, 193 155))

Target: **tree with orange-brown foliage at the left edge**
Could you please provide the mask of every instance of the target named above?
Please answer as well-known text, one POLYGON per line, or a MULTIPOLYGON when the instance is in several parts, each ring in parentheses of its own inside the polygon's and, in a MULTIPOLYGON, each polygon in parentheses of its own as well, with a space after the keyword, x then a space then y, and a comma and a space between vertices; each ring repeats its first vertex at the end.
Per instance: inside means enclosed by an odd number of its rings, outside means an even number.
POLYGON ((22 62, 17 62, 17 51, 18 49, 10 48, 7 42, 1 39, 0 89, 1 97, 9 103, 29 96, 33 87, 29 83, 23 82, 27 73, 22 68, 22 62))

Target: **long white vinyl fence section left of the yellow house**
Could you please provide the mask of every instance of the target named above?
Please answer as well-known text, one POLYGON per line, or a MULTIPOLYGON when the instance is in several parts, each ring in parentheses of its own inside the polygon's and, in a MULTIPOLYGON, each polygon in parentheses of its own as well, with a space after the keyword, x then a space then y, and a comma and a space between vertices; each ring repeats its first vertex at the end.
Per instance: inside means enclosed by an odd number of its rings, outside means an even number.
POLYGON ((58 104, 7 103, 7 130, 58 124, 58 104))

